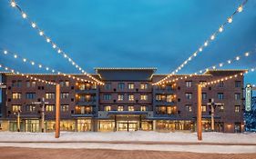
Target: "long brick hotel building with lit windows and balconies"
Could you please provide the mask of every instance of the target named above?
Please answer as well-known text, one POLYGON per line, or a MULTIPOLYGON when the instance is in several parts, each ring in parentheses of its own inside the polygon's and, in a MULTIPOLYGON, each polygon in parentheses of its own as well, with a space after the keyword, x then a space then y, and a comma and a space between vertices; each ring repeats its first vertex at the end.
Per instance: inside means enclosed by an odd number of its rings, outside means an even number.
MULTIPOLYGON (((156 68, 96 68, 93 75, 104 85, 76 82, 63 75, 34 74, 36 78, 61 85, 62 131, 159 131, 196 130, 197 85, 245 70, 210 70, 169 84, 152 85, 167 75, 155 74, 156 68)), ((75 75, 87 78, 86 75, 75 75)), ((55 86, 28 80, 22 75, 1 73, 2 103, 0 130, 46 132, 55 130, 55 86), (42 105, 43 98, 46 101, 42 105), (36 104, 35 104, 36 102, 36 104), (41 103, 41 104, 38 104, 41 103), (45 123, 42 125, 42 115, 45 123)), ((202 125, 210 130, 210 99, 215 107, 217 132, 244 131, 243 76, 202 88, 202 125)))

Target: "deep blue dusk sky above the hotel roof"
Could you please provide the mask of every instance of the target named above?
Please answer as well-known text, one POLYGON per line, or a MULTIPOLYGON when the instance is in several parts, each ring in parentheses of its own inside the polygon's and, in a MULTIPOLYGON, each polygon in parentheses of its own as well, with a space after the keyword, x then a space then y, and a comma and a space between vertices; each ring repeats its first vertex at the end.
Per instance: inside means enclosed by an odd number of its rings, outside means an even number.
MULTIPOLYGON (((88 73, 94 67, 177 68, 214 33, 241 0, 18 0, 53 41, 88 73)), ((8 0, 0 0, 0 47, 65 73, 79 73, 28 25, 8 0)), ((180 74, 225 62, 245 52, 251 57, 223 68, 256 66, 256 0, 180 74)), ((0 63, 24 73, 46 73, 0 54, 0 63)), ((3 70, 2 70, 3 71, 3 70)), ((256 84, 256 73, 246 83, 256 84)))

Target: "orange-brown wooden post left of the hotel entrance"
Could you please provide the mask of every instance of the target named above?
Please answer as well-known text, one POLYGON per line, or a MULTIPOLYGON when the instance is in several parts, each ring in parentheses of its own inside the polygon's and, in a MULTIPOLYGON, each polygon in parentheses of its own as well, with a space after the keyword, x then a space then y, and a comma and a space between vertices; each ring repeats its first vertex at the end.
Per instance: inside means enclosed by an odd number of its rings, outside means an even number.
POLYGON ((59 138, 59 129, 60 129, 60 86, 59 84, 56 84, 56 130, 55 130, 55 137, 59 138))

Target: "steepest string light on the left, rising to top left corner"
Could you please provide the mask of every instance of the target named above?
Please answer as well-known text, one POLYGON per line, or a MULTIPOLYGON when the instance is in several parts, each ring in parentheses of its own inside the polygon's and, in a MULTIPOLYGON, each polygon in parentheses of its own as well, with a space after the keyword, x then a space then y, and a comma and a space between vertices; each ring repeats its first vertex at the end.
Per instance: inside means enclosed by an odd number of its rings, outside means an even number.
MULTIPOLYGON (((21 14, 24 14, 24 13, 25 13, 24 10, 21 8, 21 6, 20 6, 20 5, 17 5, 17 4, 15 3, 15 0, 11 0, 11 5, 12 5, 13 7, 15 7, 21 14)), ((26 15, 26 17, 27 17, 27 15, 26 15)), ((40 36, 42 36, 42 37, 45 38, 46 43, 51 44, 52 47, 53 47, 54 49, 56 49, 56 52, 57 52, 58 54, 62 54, 63 57, 65 57, 65 58, 68 60, 68 62, 69 62, 70 64, 73 65, 73 63, 74 63, 74 65, 77 65, 77 63, 75 63, 74 60, 72 60, 72 59, 63 51, 63 49, 61 49, 59 46, 57 46, 56 43, 54 43, 52 40, 51 40, 51 41, 47 40, 47 38, 50 39, 50 37, 49 37, 49 36, 46 36, 45 33, 42 31, 42 29, 40 29, 38 26, 36 26, 36 23, 35 23, 35 22, 31 21, 30 18, 25 18, 25 19, 27 20, 27 22, 29 23, 29 25, 32 25, 32 27, 37 30, 37 32, 39 33, 40 36), (64 55, 65 55, 65 56, 64 56, 64 55), (70 58, 71 60, 69 60, 69 58, 70 58)), ((77 68, 78 71, 82 72, 84 75, 87 75, 89 78, 91 78, 92 80, 96 81, 97 83, 99 83, 99 84, 104 84, 103 82, 99 81, 97 78, 93 77, 92 75, 87 74, 86 71, 85 71, 84 69, 82 69, 81 66, 77 66, 76 68, 77 68), (81 68, 81 69, 80 69, 80 68, 81 68)))

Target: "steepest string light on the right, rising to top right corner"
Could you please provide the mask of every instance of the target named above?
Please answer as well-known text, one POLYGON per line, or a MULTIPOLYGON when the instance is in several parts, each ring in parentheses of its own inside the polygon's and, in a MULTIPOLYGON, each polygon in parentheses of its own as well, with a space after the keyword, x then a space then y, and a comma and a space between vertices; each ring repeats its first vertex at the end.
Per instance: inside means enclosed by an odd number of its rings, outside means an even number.
MULTIPOLYGON (((244 0, 243 3, 242 3, 240 6, 245 5, 245 4, 247 3, 247 1, 248 1, 248 0, 244 0)), ((209 45, 209 42, 210 42, 210 41, 213 41, 213 40, 216 38, 217 35, 219 35, 220 33, 223 32, 224 26, 225 26, 225 25, 228 25, 228 24, 230 24, 230 23, 232 22, 233 16, 236 15, 236 14, 238 14, 238 13, 240 13, 239 10, 241 10, 241 9, 239 9, 239 8, 236 9, 236 11, 235 11, 232 15, 230 15, 229 18, 227 19, 228 23, 227 23, 227 21, 226 21, 225 23, 223 23, 222 25, 220 25, 220 27, 218 28, 218 30, 215 31, 214 34, 212 34, 213 36, 211 35, 211 36, 209 37, 209 39, 207 39, 207 40, 205 41, 205 43, 200 46, 199 52, 202 52, 203 48, 204 48, 204 47, 207 47, 207 46, 209 45)), ((196 56, 197 56, 197 55, 196 55, 196 56)), ((193 57, 196 57, 196 56, 190 55, 189 58, 188 58, 187 60, 185 60, 185 62, 183 62, 183 63, 181 64, 182 66, 179 65, 179 66, 181 67, 181 69, 182 69, 185 65, 188 65, 188 62, 191 61, 191 59, 192 59, 193 57)), ((179 66, 178 66, 178 68, 179 68, 179 66)), ((181 70, 181 69, 179 69, 179 70, 181 70)), ((176 68, 176 69, 175 69, 174 71, 172 71, 169 75, 175 75, 176 73, 179 72, 179 71, 177 71, 177 70, 178 70, 178 69, 176 68)), ((163 81, 167 80, 167 79, 169 78, 169 75, 168 75, 167 77, 165 77, 164 79, 160 80, 159 82, 163 82, 163 81)))

